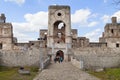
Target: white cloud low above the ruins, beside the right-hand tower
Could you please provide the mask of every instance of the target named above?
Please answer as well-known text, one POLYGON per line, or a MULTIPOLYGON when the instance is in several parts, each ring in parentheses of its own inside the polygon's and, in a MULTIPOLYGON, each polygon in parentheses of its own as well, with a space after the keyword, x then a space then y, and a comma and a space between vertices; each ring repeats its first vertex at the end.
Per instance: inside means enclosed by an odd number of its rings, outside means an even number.
POLYGON ((97 42, 101 36, 101 29, 96 29, 92 32, 86 33, 84 36, 89 38, 90 41, 97 42))

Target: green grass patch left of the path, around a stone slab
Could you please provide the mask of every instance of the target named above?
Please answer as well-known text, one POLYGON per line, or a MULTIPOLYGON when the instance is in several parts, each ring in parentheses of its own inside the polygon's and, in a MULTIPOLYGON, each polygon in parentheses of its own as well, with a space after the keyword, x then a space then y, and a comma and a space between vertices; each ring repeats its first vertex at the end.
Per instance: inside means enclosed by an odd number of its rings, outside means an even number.
POLYGON ((25 70, 30 70, 30 75, 21 75, 18 73, 18 70, 18 67, 0 66, 0 80, 33 80, 38 72, 37 67, 25 67, 25 70))

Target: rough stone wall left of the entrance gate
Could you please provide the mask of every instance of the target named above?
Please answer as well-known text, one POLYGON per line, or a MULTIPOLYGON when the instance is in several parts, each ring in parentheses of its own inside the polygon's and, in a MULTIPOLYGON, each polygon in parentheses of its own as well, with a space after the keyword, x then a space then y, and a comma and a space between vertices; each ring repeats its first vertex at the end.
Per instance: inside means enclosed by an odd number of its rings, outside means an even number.
POLYGON ((29 48, 28 50, 0 51, 0 65, 4 66, 39 66, 40 55, 46 57, 45 48, 29 48))

